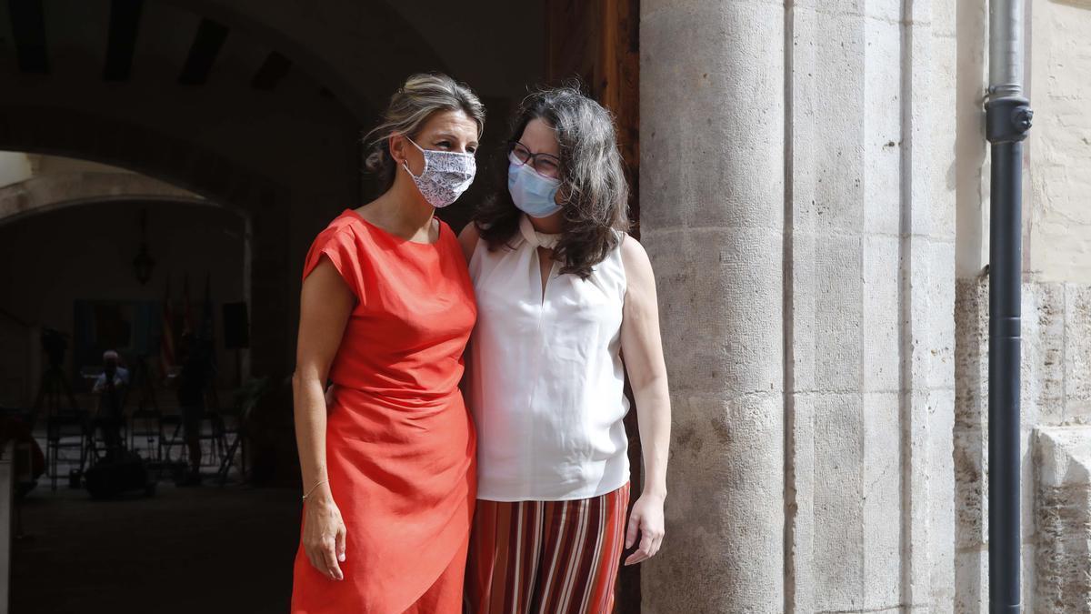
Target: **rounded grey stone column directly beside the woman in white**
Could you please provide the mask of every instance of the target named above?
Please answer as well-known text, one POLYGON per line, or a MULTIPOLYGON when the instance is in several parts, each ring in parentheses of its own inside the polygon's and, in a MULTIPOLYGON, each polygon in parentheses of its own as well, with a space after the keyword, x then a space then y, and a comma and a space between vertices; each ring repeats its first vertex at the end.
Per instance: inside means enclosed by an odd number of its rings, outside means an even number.
POLYGON ((640 7, 642 240, 674 433, 644 611, 784 606, 780 2, 640 7))

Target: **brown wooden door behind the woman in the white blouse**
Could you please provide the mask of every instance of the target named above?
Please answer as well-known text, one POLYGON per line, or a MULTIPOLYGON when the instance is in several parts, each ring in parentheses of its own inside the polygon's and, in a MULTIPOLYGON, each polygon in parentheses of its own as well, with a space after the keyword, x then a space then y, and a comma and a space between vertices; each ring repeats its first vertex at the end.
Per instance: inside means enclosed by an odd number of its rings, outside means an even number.
MULTIPOLYGON (((631 234, 640 236, 639 0, 547 0, 546 74, 552 85, 576 78, 584 92, 615 117, 618 141, 630 185, 631 234)), ((628 386, 625 393, 632 406, 628 386)), ((625 418, 632 467, 632 504, 640 494, 640 439, 636 411, 625 418)), ((627 554, 627 553, 626 553, 627 554)), ((640 612, 640 567, 622 567, 615 612, 640 612)))

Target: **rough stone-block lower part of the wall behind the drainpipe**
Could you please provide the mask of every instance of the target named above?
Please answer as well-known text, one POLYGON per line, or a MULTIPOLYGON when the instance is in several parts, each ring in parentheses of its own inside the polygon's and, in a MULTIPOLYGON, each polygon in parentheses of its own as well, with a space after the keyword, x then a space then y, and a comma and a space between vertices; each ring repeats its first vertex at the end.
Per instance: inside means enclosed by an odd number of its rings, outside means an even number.
MULTIPOLYGON (((956 603, 958 612, 985 612, 987 276, 957 287, 956 603)), ((1091 450, 1091 286, 1024 282, 1022 293, 1023 603, 1028 612, 1080 612, 1091 601, 1091 575, 1062 571, 1080 560, 1074 544, 1091 543, 1091 499, 1079 471, 1091 450)))

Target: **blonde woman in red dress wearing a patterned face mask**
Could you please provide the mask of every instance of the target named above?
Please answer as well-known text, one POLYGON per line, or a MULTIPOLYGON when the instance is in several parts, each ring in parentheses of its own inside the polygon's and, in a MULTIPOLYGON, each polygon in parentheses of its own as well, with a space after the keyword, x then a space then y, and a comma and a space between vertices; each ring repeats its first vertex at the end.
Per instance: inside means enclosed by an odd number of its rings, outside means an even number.
POLYGON ((303 267, 297 614, 461 603, 476 436, 458 382, 477 307, 458 240, 434 213, 473 180, 484 110, 465 85, 422 74, 384 119, 368 167, 385 191, 335 219, 303 267))

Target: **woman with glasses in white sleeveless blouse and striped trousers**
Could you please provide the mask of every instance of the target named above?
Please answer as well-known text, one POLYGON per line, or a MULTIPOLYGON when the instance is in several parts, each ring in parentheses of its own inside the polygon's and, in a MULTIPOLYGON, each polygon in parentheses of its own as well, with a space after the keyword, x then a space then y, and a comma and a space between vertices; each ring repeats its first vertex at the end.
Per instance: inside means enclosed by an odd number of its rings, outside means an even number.
POLYGON ((635 546, 635 565, 663 538, 670 398, 655 278, 625 235, 604 108, 573 88, 535 93, 507 152, 507 190, 459 237, 478 300, 466 599, 478 614, 611 612, 622 551, 635 546), (644 450, 627 529, 626 371, 644 450))

